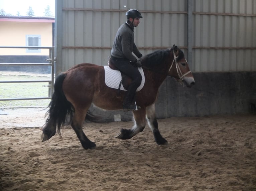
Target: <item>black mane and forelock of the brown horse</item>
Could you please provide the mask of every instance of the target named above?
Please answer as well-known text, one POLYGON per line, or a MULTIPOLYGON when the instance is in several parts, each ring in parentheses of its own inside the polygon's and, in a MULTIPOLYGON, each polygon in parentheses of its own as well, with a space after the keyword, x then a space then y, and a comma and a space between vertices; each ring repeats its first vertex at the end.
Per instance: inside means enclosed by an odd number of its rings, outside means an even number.
MULTIPOLYGON (((169 56, 170 52, 173 52, 173 48, 166 49, 166 50, 157 50, 153 53, 150 53, 144 57, 141 58, 142 65, 144 66, 156 66, 159 63, 162 63, 166 56, 169 56)), ((177 61, 184 58, 184 53, 182 50, 178 48, 178 58, 177 61)))

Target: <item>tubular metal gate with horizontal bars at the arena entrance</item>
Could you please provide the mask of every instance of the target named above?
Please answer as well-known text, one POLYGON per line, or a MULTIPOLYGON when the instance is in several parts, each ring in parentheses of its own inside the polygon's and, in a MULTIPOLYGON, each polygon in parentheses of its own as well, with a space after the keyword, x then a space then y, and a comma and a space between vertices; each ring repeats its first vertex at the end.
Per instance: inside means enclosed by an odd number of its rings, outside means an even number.
MULTIPOLYGON (((54 71, 55 71, 55 55, 54 47, 31 47, 31 46, 20 46, 20 47, 11 47, 11 46, 1 46, 2 48, 9 49, 27 49, 27 48, 36 48, 36 49, 49 49, 49 58, 45 59, 49 63, 0 63, 0 66, 51 66, 51 80, 29 80, 29 81, 0 81, 0 83, 47 83, 43 87, 48 87, 48 96, 45 97, 19 97, 19 98, 2 98, 0 101, 11 101, 11 100, 32 100, 32 99, 50 99, 53 94, 53 84, 54 84, 54 71)), ((0 106, 1 107, 1 106, 0 106)))

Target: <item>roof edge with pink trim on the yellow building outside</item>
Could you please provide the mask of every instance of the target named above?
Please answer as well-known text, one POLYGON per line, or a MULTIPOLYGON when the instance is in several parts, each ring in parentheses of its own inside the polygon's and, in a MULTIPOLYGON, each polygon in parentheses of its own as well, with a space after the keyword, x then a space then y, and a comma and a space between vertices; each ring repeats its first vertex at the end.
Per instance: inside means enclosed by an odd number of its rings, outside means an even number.
POLYGON ((30 16, 0 16, 1 21, 8 22, 42 22, 42 23, 54 23, 54 17, 30 17, 30 16))

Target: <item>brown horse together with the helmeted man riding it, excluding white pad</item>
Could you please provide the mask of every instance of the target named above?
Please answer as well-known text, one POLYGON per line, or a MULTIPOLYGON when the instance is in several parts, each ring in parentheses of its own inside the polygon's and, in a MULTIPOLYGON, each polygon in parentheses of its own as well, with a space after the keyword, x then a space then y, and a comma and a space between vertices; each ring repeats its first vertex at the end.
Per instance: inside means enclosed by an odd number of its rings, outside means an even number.
MULTIPOLYGON (((173 77, 187 87, 193 86, 195 80, 189 70, 184 53, 176 45, 141 58, 142 54, 133 42, 133 29, 138 26, 142 16, 135 9, 127 11, 126 16, 127 22, 118 29, 116 34, 111 58, 112 64, 116 68, 132 78, 128 92, 119 91, 106 85, 104 66, 82 63, 73 66, 66 72, 59 73, 55 79, 54 92, 46 113, 47 119, 42 127, 42 142, 55 135, 56 130, 61 135, 61 128, 65 126, 67 117, 69 117, 68 121, 71 122, 84 149, 95 148, 96 144, 83 131, 85 118, 96 119, 89 111, 91 104, 107 110, 122 108, 134 110, 136 109, 134 100, 140 105, 140 109, 133 111, 134 125, 130 129, 122 128, 115 137, 119 139, 132 138, 143 131, 147 121, 154 134, 155 142, 159 145, 167 142, 160 134, 155 114, 155 101, 159 87, 167 76, 173 77), (132 55, 132 52, 141 58, 141 63, 132 55), (134 99, 135 91, 142 80, 138 70, 138 66, 141 65, 143 65, 145 84, 136 93, 136 99, 134 99)), ((97 119, 93 121, 97 121, 97 119)))

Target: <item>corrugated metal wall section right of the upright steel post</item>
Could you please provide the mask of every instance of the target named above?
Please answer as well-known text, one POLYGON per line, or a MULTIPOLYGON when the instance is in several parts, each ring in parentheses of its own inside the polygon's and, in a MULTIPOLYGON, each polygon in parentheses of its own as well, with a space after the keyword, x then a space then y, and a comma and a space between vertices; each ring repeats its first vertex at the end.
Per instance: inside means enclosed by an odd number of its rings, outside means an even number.
POLYGON ((256 1, 194 0, 193 69, 256 71, 256 1))

